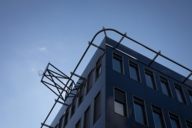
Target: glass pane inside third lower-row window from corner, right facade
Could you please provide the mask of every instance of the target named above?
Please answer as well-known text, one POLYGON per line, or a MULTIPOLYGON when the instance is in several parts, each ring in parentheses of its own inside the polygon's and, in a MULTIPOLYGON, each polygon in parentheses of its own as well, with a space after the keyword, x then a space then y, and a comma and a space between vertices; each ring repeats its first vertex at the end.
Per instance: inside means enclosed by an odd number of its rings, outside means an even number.
POLYGON ((155 128, 163 128, 163 120, 160 113, 153 112, 155 128))

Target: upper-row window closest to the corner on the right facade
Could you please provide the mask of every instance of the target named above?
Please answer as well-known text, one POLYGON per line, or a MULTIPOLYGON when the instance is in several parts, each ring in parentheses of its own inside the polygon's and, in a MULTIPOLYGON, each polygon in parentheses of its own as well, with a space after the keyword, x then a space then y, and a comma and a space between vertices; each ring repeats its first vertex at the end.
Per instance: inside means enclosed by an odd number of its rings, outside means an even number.
POLYGON ((113 70, 123 74, 122 56, 115 53, 113 54, 113 70))

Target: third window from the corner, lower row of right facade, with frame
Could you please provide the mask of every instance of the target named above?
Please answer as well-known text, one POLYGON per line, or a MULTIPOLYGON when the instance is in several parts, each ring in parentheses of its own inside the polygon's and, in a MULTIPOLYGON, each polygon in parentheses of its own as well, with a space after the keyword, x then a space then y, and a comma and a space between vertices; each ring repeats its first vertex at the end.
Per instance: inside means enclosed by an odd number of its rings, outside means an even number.
POLYGON ((155 128, 165 128, 161 109, 153 106, 153 120, 155 128))

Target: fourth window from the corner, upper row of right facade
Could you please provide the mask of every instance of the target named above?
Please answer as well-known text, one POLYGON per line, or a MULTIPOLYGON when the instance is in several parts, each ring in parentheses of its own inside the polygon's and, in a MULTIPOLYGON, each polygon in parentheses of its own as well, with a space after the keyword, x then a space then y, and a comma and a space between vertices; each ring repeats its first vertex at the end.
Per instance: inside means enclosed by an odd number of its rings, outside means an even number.
POLYGON ((165 94, 166 96, 171 96, 168 80, 163 78, 163 77, 161 77, 160 81, 161 81, 162 93, 165 94))

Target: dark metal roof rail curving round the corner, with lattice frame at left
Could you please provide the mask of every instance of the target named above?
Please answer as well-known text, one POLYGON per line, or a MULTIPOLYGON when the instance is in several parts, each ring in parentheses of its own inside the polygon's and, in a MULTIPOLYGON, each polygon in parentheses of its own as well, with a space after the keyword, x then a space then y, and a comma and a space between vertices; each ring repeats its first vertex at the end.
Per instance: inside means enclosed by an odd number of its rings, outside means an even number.
POLYGON ((132 39, 131 37, 127 36, 126 33, 123 34, 123 33, 119 32, 119 31, 117 31, 115 29, 111 29, 111 28, 103 28, 93 36, 93 38, 92 38, 92 40, 90 42, 88 42, 88 46, 87 46, 86 50, 82 54, 82 56, 79 59, 77 65, 75 66, 74 70, 70 73, 70 76, 67 76, 65 73, 60 71, 58 68, 56 68, 51 63, 48 63, 48 65, 47 65, 47 67, 46 67, 46 69, 45 69, 45 71, 43 73, 41 82, 49 90, 51 90, 51 92, 53 92, 57 96, 57 99, 55 100, 53 106, 51 107, 50 111, 48 112, 45 120, 41 123, 41 128, 43 128, 43 127, 53 128, 50 124, 46 124, 46 123, 47 123, 47 119, 51 115, 51 113, 54 110, 57 103, 60 103, 60 104, 65 105, 65 106, 70 106, 70 104, 67 104, 65 101, 68 98, 73 98, 76 95, 75 93, 73 93, 73 91, 78 90, 78 88, 80 87, 80 86, 78 86, 79 83, 75 83, 75 81, 73 80, 73 77, 78 77, 79 79, 86 80, 86 78, 84 78, 84 77, 82 77, 82 76, 80 76, 80 75, 78 75, 76 73, 77 69, 79 68, 79 65, 83 61, 85 55, 87 54, 87 52, 88 52, 88 50, 90 49, 91 46, 103 51, 103 55, 105 55, 106 49, 99 46, 99 45, 97 45, 97 44, 95 44, 94 40, 96 39, 96 37, 99 34, 102 34, 102 33, 104 34, 104 38, 107 37, 108 32, 116 33, 121 37, 120 40, 117 42, 117 44, 113 47, 113 50, 118 50, 118 47, 122 43, 122 41, 124 39, 128 39, 132 43, 135 43, 135 44, 137 44, 139 46, 142 46, 143 48, 145 48, 145 49, 147 49, 147 50, 149 50, 149 51, 151 51, 152 53, 155 54, 154 58, 151 59, 151 62, 149 62, 147 64, 147 66, 150 67, 158 57, 162 57, 162 58, 168 60, 169 62, 171 62, 173 64, 176 64, 179 67, 181 67, 181 68, 183 68, 183 69, 185 69, 186 71, 189 72, 189 75, 186 76, 183 81, 180 81, 181 83, 186 84, 186 81, 192 76, 192 70, 191 69, 189 69, 186 66, 184 66, 184 65, 182 65, 182 64, 168 58, 167 56, 163 55, 160 51, 155 51, 152 48, 149 48, 148 46, 146 46, 146 45, 132 39))

